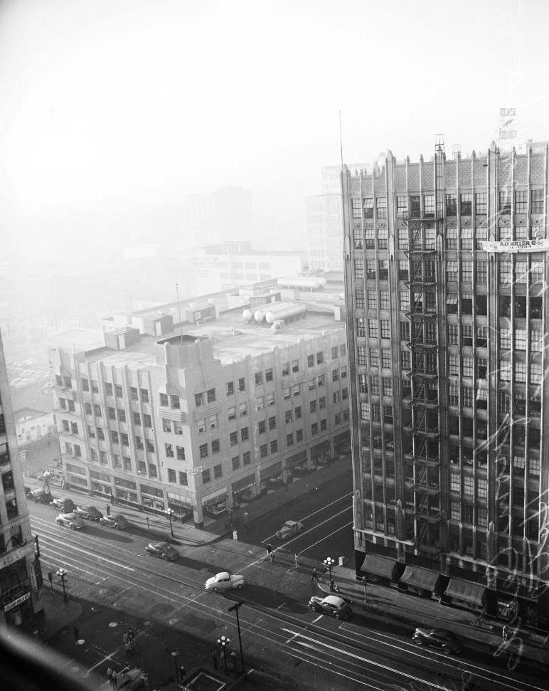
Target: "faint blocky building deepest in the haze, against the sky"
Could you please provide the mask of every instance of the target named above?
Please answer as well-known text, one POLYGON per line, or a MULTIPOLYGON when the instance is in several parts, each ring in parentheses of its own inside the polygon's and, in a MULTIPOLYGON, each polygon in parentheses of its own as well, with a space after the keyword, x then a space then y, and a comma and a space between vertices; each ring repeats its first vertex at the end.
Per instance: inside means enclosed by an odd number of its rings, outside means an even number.
POLYGON ((186 197, 186 233, 191 247, 253 236, 252 193, 235 185, 186 197))

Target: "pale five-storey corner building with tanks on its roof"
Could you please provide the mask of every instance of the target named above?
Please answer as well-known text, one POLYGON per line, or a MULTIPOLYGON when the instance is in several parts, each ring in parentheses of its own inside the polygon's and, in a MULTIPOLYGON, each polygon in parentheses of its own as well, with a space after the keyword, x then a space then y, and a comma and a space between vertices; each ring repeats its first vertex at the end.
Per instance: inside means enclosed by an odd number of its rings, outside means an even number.
POLYGON ((346 450, 343 302, 314 287, 118 315, 104 347, 50 351, 68 486, 201 525, 346 450))

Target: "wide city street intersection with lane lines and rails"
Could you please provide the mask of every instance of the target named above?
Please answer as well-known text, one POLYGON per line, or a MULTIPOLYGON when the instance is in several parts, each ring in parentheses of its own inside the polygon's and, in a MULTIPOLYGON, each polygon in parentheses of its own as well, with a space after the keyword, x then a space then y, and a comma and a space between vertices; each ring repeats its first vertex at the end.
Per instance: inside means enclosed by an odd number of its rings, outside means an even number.
MULTIPOLYGON (((252 522, 237 542, 213 534, 209 541, 199 540, 205 531, 178 527, 175 547, 181 556, 173 562, 146 554, 149 533, 142 517, 126 531, 86 522, 77 533, 55 524, 55 510, 31 504, 44 574, 63 566, 68 596, 83 607, 75 623, 82 642, 75 643, 69 627, 50 645, 67 655, 66 670, 75 675, 97 675, 99 682, 109 667, 136 665, 149 674, 151 688, 175 691, 181 665, 186 673, 198 667, 213 670, 215 658, 218 674, 224 675, 226 668, 230 677, 240 669, 235 616, 228 607, 242 601, 245 663, 247 671, 255 670, 248 677, 250 687, 260 679, 268 688, 266 677, 272 688, 454 690, 474 677, 475 689, 542 689, 528 669, 509 672, 487 649, 471 647, 459 658, 420 650, 409 626, 362 607, 353 606, 353 617, 345 623, 309 611, 309 597, 324 596, 322 589, 329 588, 322 569, 320 584, 311 581, 311 565, 329 555, 343 556, 347 549, 352 553, 350 499, 348 492, 341 496, 344 487, 346 474, 252 522), (299 520, 305 528, 282 543, 273 536, 287 519, 299 520), (273 563, 265 558, 267 542, 274 549, 273 563), (206 593, 204 581, 225 570, 245 576, 245 588, 206 593), (137 649, 125 653, 123 635, 130 627, 137 649), (230 638, 226 658, 217 643, 221 635, 230 638)), ((132 519, 131 512, 126 515, 132 519)), ((53 590, 60 600, 58 576, 53 590)))

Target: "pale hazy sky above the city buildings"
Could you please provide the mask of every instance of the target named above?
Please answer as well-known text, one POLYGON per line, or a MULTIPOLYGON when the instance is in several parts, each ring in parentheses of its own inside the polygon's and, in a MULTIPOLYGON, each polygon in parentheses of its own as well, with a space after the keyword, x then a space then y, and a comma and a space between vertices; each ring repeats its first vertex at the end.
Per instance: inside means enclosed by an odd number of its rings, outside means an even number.
POLYGON ((74 243, 224 184, 302 211, 339 110, 348 162, 430 156, 439 132, 485 150, 500 107, 549 139, 548 19, 546 0, 0 0, 0 229, 74 243))

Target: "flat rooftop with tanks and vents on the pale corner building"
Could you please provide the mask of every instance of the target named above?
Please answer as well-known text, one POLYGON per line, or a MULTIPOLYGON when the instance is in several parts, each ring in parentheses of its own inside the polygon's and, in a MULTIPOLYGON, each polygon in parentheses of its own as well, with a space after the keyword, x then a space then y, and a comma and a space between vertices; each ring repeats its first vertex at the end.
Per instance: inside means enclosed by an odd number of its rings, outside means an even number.
MULTIPOLYGON (((274 347, 285 347, 302 339, 320 336, 323 332, 338 331, 345 328, 345 322, 334 320, 333 309, 325 312, 307 312, 304 319, 289 322, 281 329, 273 331, 267 322, 245 323, 242 308, 224 312, 216 320, 201 326, 183 324, 181 333, 188 342, 192 337, 207 338, 213 342, 214 357, 222 364, 230 364, 272 351, 274 347)), ((180 334, 179 325, 161 337, 142 335, 139 342, 125 350, 97 348, 86 353, 88 362, 105 361, 109 366, 128 366, 129 369, 144 369, 156 364, 156 343, 176 339, 180 334)))

